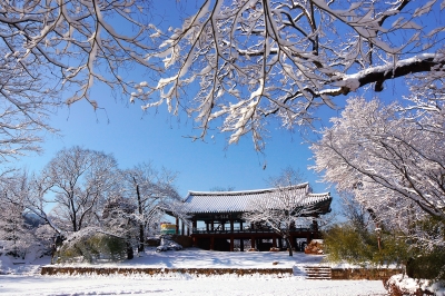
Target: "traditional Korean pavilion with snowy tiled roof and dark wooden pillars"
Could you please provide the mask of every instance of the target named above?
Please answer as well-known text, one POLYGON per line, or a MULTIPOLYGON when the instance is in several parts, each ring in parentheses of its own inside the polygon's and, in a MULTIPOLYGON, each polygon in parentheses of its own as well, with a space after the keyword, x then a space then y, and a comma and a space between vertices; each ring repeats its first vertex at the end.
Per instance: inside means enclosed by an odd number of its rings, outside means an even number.
MULTIPOLYGON (((269 250, 286 248, 279 235, 265 225, 247 224, 243 214, 250 211, 258 203, 267 200, 270 208, 283 194, 290 198, 290 207, 303 209, 299 216, 314 217, 312 224, 295 225, 290 231, 290 244, 299 249, 301 241, 309 243, 319 237, 318 225, 315 218, 330 211, 332 196, 329 193, 313 194, 308 182, 285 188, 270 188, 248 191, 189 191, 184 199, 184 209, 187 213, 192 228, 187 230, 194 246, 210 250, 245 250, 254 248, 269 250), (308 210, 305 210, 308 209, 308 210), (198 225, 200 228, 198 228, 198 225), (190 231, 191 230, 191 231, 190 231), (250 246, 245 244, 250 243, 250 246), (236 247, 235 247, 236 246, 236 247)), ((189 223, 190 225, 190 223, 189 223)), ((179 220, 177 219, 179 234, 179 220)), ((185 223, 181 226, 185 233, 185 223)))

